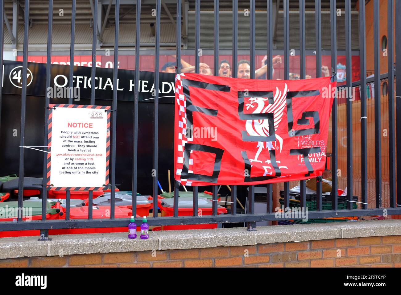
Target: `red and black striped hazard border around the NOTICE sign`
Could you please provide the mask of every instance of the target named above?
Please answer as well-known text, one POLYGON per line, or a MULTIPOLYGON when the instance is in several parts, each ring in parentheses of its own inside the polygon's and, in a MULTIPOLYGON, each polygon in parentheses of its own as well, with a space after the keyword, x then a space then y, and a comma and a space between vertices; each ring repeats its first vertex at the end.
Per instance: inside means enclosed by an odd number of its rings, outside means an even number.
MULTIPOLYGON (((83 104, 49 104, 49 128, 48 128, 48 144, 47 144, 47 189, 52 191, 98 191, 104 187, 51 187, 50 171, 51 171, 51 136, 52 136, 52 117, 53 108, 87 108, 87 109, 103 109, 110 110, 109 106, 87 106, 83 104)), ((110 130, 110 112, 107 112, 107 130, 110 130)), ((105 185, 109 184, 109 166, 110 166, 110 136, 109 132, 106 139, 106 179, 105 185)))

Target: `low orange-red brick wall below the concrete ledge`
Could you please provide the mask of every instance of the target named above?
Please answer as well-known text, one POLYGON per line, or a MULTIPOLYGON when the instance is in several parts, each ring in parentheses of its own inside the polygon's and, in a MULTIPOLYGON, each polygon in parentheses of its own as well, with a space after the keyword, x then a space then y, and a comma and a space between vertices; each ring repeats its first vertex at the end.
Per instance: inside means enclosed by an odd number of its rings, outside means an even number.
POLYGON ((0 260, 0 267, 401 267, 401 236, 0 260))

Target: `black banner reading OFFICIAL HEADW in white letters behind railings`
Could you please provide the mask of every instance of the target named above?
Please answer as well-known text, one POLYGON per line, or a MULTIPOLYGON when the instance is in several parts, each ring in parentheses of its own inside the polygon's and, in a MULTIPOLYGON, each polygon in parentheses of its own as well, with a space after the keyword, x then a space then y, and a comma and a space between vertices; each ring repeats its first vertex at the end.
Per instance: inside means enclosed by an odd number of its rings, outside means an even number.
MULTIPOLYGON (((21 94, 22 62, 4 61, 3 93, 21 94)), ((51 65, 51 87, 46 89, 46 64, 28 63, 27 95, 65 98, 68 88, 69 66, 51 65)), ((117 71, 117 100, 134 101, 135 71, 119 69, 117 71)), ((174 103, 174 74, 160 73, 159 102, 174 103)), ((74 103, 79 98, 91 98, 91 67, 74 66, 74 103), (79 94, 79 95, 77 95, 79 94)), ((96 68, 96 99, 111 100, 113 97, 113 69, 96 68)), ((154 72, 140 71, 139 101, 154 101, 154 72)))

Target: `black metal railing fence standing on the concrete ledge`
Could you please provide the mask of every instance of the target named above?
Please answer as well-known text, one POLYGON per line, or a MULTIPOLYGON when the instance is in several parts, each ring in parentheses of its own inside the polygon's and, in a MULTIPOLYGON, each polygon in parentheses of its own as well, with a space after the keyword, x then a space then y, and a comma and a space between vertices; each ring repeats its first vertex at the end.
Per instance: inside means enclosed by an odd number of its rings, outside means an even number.
MULTIPOLYGON (((24 5, 24 45, 22 55, 23 59, 23 68, 22 68, 22 96, 21 96, 21 129, 20 129, 20 160, 19 160, 19 187, 18 187, 18 207, 22 208, 23 201, 23 191, 24 191, 24 130, 25 130, 25 118, 26 118, 26 83, 27 83, 27 57, 28 57, 28 31, 29 31, 29 0, 25 0, 24 5)), ((135 1, 134 1, 135 2, 135 1)), ((161 14, 161 0, 155 0, 156 2, 156 37, 155 37, 155 71, 154 71, 154 81, 155 85, 158 85, 159 79, 159 51, 160 51, 160 14, 161 14)), ((289 79, 290 74, 290 23, 289 23, 289 0, 284 0, 284 79, 289 79)), ((296 1, 291 1, 291 4, 294 4, 296 1)), ((379 67, 379 59, 382 54, 379 42, 379 0, 374 0, 374 56, 375 56, 375 77, 374 83, 375 85, 380 85, 380 67, 379 67)), ((366 116, 367 116, 367 108, 366 108, 366 87, 360 88, 360 100, 361 100, 361 209, 353 209, 353 199, 352 199, 352 191, 353 191, 353 178, 352 178, 352 169, 353 169, 353 161, 352 161, 352 102, 347 100, 346 102, 346 146, 347 146, 347 209, 346 210, 338 210, 338 202, 337 202, 337 188, 338 188, 338 178, 337 178, 337 155, 338 155, 338 146, 337 146, 337 98, 334 98, 333 108, 332 108, 332 155, 331 155, 331 170, 332 170, 332 208, 331 210, 322 210, 322 179, 318 177, 318 182, 316 186, 317 193, 317 210, 309 211, 308 218, 332 218, 332 217, 348 217, 348 216, 372 216, 372 215, 383 215, 383 210, 387 210, 388 215, 392 214, 401 214, 401 208, 399 207, 401 204, 401 190, 396 193, 396 184, 400 184, 400 181, 396 178, 396 158, 395 158, 395 107, 397 107, 397 112, 401 115, 401 104, 394 105, 394 40, 396 41, 396 53, 398 53, 398 57, 401 56, 401 39, 394 39, 394 21, 395 28, 397 32, 401 32, 401 20, 397 18, 394 20, 393 16, 393 7, 394 0, 388 0, 388 93, 389 93, 389 146, 381 146, 381 118, 380 118, 380 108, 381 108, 381 93, 380 87, 375 87, 375 139, 376 139, 376 147, 375 147, 375 186, 376 186, 376 195, 375 195, 375 208, 368 209, 367 206, 367 125, 366 125, 366 116), (382 170, 381 170, 381 159, 382 153, 389 154, 389 175, 390 175, 390 192, 389 192, 389 208, 382 208, 382 195, 381 195, 381 183, 382 183, 382 170), (397 207, 398 206, 398 207, 397 207)), ((195 0, 195 12, 196 12, 196 24, 195 24, 195 72, 199 72, 199 55, 197 54, 200 45, 200 7, 201 1, 195 0)), ((93 11, 97 11, 97 6, 99 5, 97 0, 93 1, 93 11)), ((238 10, 238 1, 233 0, 233 11, 238 10)), ((315 9, 316 9, 316 77, 321 76, 321 66, 322 66, 322 49, 321 49, 321 18, 320 18, 320 1, 315 1, 315 9)), ((118 36, 119 36, 119 6, 120 1, 115 0, 115 39, 114 39, 114 68, 113 68, 113 79, 117 80, 117 59, 118 59, 118 36)), ((181 12, 182 12, 182 0, 177 0, 177 10, 176 10, 176 61, 178 66, 178 72, 180 72, 180 59, 181 59, 181 12)), ((219 66, 219 0, 214 0, 214 74, 218 75, 218 66, 219 66)), ((140 24, 140 8, 141 8, 141 0, 136 0, 136 24, 140 24)), ((266 1, 266 9, 267 9, 267 79, 271 79, 273 77, 272 72, 272 54, 273 54, 273 4, 272 0, 266 1)), ((305 0, 299 0, 299 10, 300 10, 300 78, 305 79, 305 0)), ((396 15, 401 14, 401 2, 396 1, 395 5, 395 13, 396 15)), ((70 66, 69 66, 69 86, 73 87, 73 60, 74 60, 74 42, 75 42, 75 12, 76 12, 76 0, 72 0, 72 18, 71 18, 71 49, 70 49, 70 66)), ((331 67, 332 69, 336 69, 336 0, 330 0, 330 35, 331 35, 331 67)), ((356 86, 352 83, 352 68, 351 68, 351 0, 345 0, 345 15, 346 15, 346 23, 345 23, 345 38, 346 38, 346 86, 352 87, 356 86)), ((250 16, 250 68, 251 68, 251 78, 255 76, 255 31, 257 27, 255 25, 255 0, 249 1, 249 16, 250 16)), ((97 23, 97 14, 93 13, 93 23, 97 23)), ((238 39, 241 36, 238 35, 237 28, 237 13, 233 13, 233 63, 232 63, 232 73, 233 77, 236 77, 237 74, 237 47, 238 47, 238 39)), ((3 31, 4 31, 4 1, 1 1, 0 6, 0 22, 2 23, 2 29, 0 31, 0 76, 2 76, 3 69, 3 31)), ((48 35, 47 35, 47 72, 46 72, 46 88, 50 87, 51 83, 51 45, 52 45, 52 24, 53 24, 53 1, 49 1, 49 23, 48 23, 48 35)), ((360 85, 367 84, 366 78, 366 42, 365 42, 365 1, 359 1, 359 47, 360 47, 360 85)), ((329 32, 324 32, 329 33, 329 32)), ((134 34, 134 32, 133 32, 134 34)), ((96 35, 97 35, 97 26, 93 25, 93 43, 92 43, 92 64, 95 64, 96 61, 96 35)), ((136 25, 136 46, 135 46, 135 61, 136 65, 139 65, 139 57, 140 57, 140 26, 136 25)), ((371 46, 371 45, 369 45, 371 46)), ((397 59, 397 74, 401 75, 401 62, 400 58, 397 59)), ((333 70, 332 70, 333 71, 333 70)), ((92 67, 91 69, 91 78, 92 81, 95 79, 96 68, 92 67)), ((334 73, 335 74, 335 73, 334 73)), ((139 81, 139 66, 135 68, 135 90, 134 90, 134 146, 133 146, 133 168, 132 168, 132 191, 136 192, 137 190, 137 172, 138 172, 138 83, 139 81)), ((401 97, 401 79, 397 80, 397 95, 396 98, 401 97)), ((1 90, 1 85, 0 85, 1 90)), ((172 217, 158 217, 158 203, 157 203, 157 195, 158 195, 158 184, 157 184, 157 171, 158 171, 158 107, 159 107, 159 94, 158 87, 155 88, 155 96, 154 96, 154 146, 153 146, 153 169, 156 171, 155 176, 153 177, 153 217, 148 218, 148 223, 151 226, 155 225, 175 225, 175 224, 206 224, 206 223, 232 223, 232 222, 246 222, 248 230, 255 230, 257 221, 273 221, 273 220, 285 220, 286 218, 277 218, 275 216, 275 212, 273 212, 273 185, 267 184, 267 193, 266 193, 266 212, 255 214, 255 188, 251 186, 249 188, 249 195, 247 197, 247 212, 245 214, 237 214, 236 210, 236 200, 237 200, 237 187, 231 186, 232 191, 232 199, 233 202, 231 208, 231 214, 217 214, 217 186, 213 187, 213 209, 211 216, 198 216, 198 187, 193 188, 193 203, 194 203, 194 214, 193 216, 180 216, 178 217, 178 187, 179 183, 175 182, 174 185, 174 216, 172 217)), ((397 101, 398 102, 398 101, 397 101)), ((1 91, 0 91, 0 103, 1 103, 1 91)), ((72 97, 69 98, 69 104, 73 104, 72 97)), ((91 88, 91 104, 95 103, 95 87, 91 88)), ((113 100, 111 107, 111 142, 110 142, 110 185, 111 188, 111 212, 109 219, 96 220, 93 219, 93 195, 92 192, 89 193, 89 216, 87 220, 71 220, 70 219, 70 193, 67 191, 66 195, 66 216, 65 220, 46 220, 46 199, 47 199, 47 190, 43 189, 42 193, 42 220, 30 221, 26 222, 22 220, 21 212, 18 213, 18 220, 16 222, 0 222, 0 231, 4 230, 41 230, 45 237, 47 236, 47 231, 49 229, 62 229, 62 228, 95 228, 95 227, 126 227, 128 226, 128 219, 116 219, 114 212, 114 204, 115 204, 115 146, 116 146, 116 118, 118 115, 118 110, 116 110, 117 106, 117 87, 113 87, 113 100)), ((48 108, 49 108, 49 98, 46 96, 45 105, 46 115, 45 115, 45 141, 44 146, 47 146, 47 125, 48 125, 48 108)), ((0 105, 1 108, 1 105, 0 105)), ((398 133, 401 133, 401 120, 398 122, 398 133)), ((359 136, 359 135, 358 135, 359 136)), ((398 153, 401 153, 401 145, 397 146, 398 153)), ((401 173, 401 163, 398 163, 397 172, 401 173)), ((47 156, 43 158, 43 187, 46 187, 47 178, 47 156)), ((227 185, 230 185, 227 183, 227 185)), ((290 183, 284 183, 284 205, 285 207, 290 207, 290 183)), ((304 180, 300 181, 300 205, 301 207, 306 206, 306 183, 304 180)), ((132 199, 132 215, 136 216, 136 198, 132 199)), ((288 219, 288 218, 287 218, 288 219)), ((139 225, 140 221, 138 221, 139 225)))

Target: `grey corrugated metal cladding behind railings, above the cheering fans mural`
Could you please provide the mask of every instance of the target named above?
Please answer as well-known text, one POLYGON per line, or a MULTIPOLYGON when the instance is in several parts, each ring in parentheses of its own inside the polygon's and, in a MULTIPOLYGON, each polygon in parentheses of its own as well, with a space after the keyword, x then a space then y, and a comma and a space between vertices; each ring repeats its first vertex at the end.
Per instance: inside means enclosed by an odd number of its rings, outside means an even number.
MULTIPOLYGON (((245 16, 243 12, 238 13, 238 49, 249 49, 249 16, 245 16)), ((299 14, 290 13, 290 47, 299 49, 299 14)), ((233 25, 232 13, 220 12, 219 14, 219 48, 232 49, 233 47, 233 25)), ((266 12, 257 11, 255 13, 255 47, 256 49, 267 48, 267 15, 266 12)), ((321 30, 322 30, 322 49, 330 50, 330 14, 321 14, 321 30)), ((358 12, 353 11, 351 16, 352 28, 352 49, 359 49, 358 34, 358 12)), ((315 14, 308 12, 305 14, 305 43, 306 49, 316 48, 315 35, 315 14)), ((211 12, 201 12, 201 29, 200 29, 200 47, 202 49, 214 48, 214 14, 211 12)), ((283 12, 279 12, 277 20, 277 49, 283 49, 284 46, 284 24, 283 12)), ((188 12, 188 49, 195 47, 195 12, 188 12)), ((337 17, 337 48, 345 50, 345 14, 337 17)))

